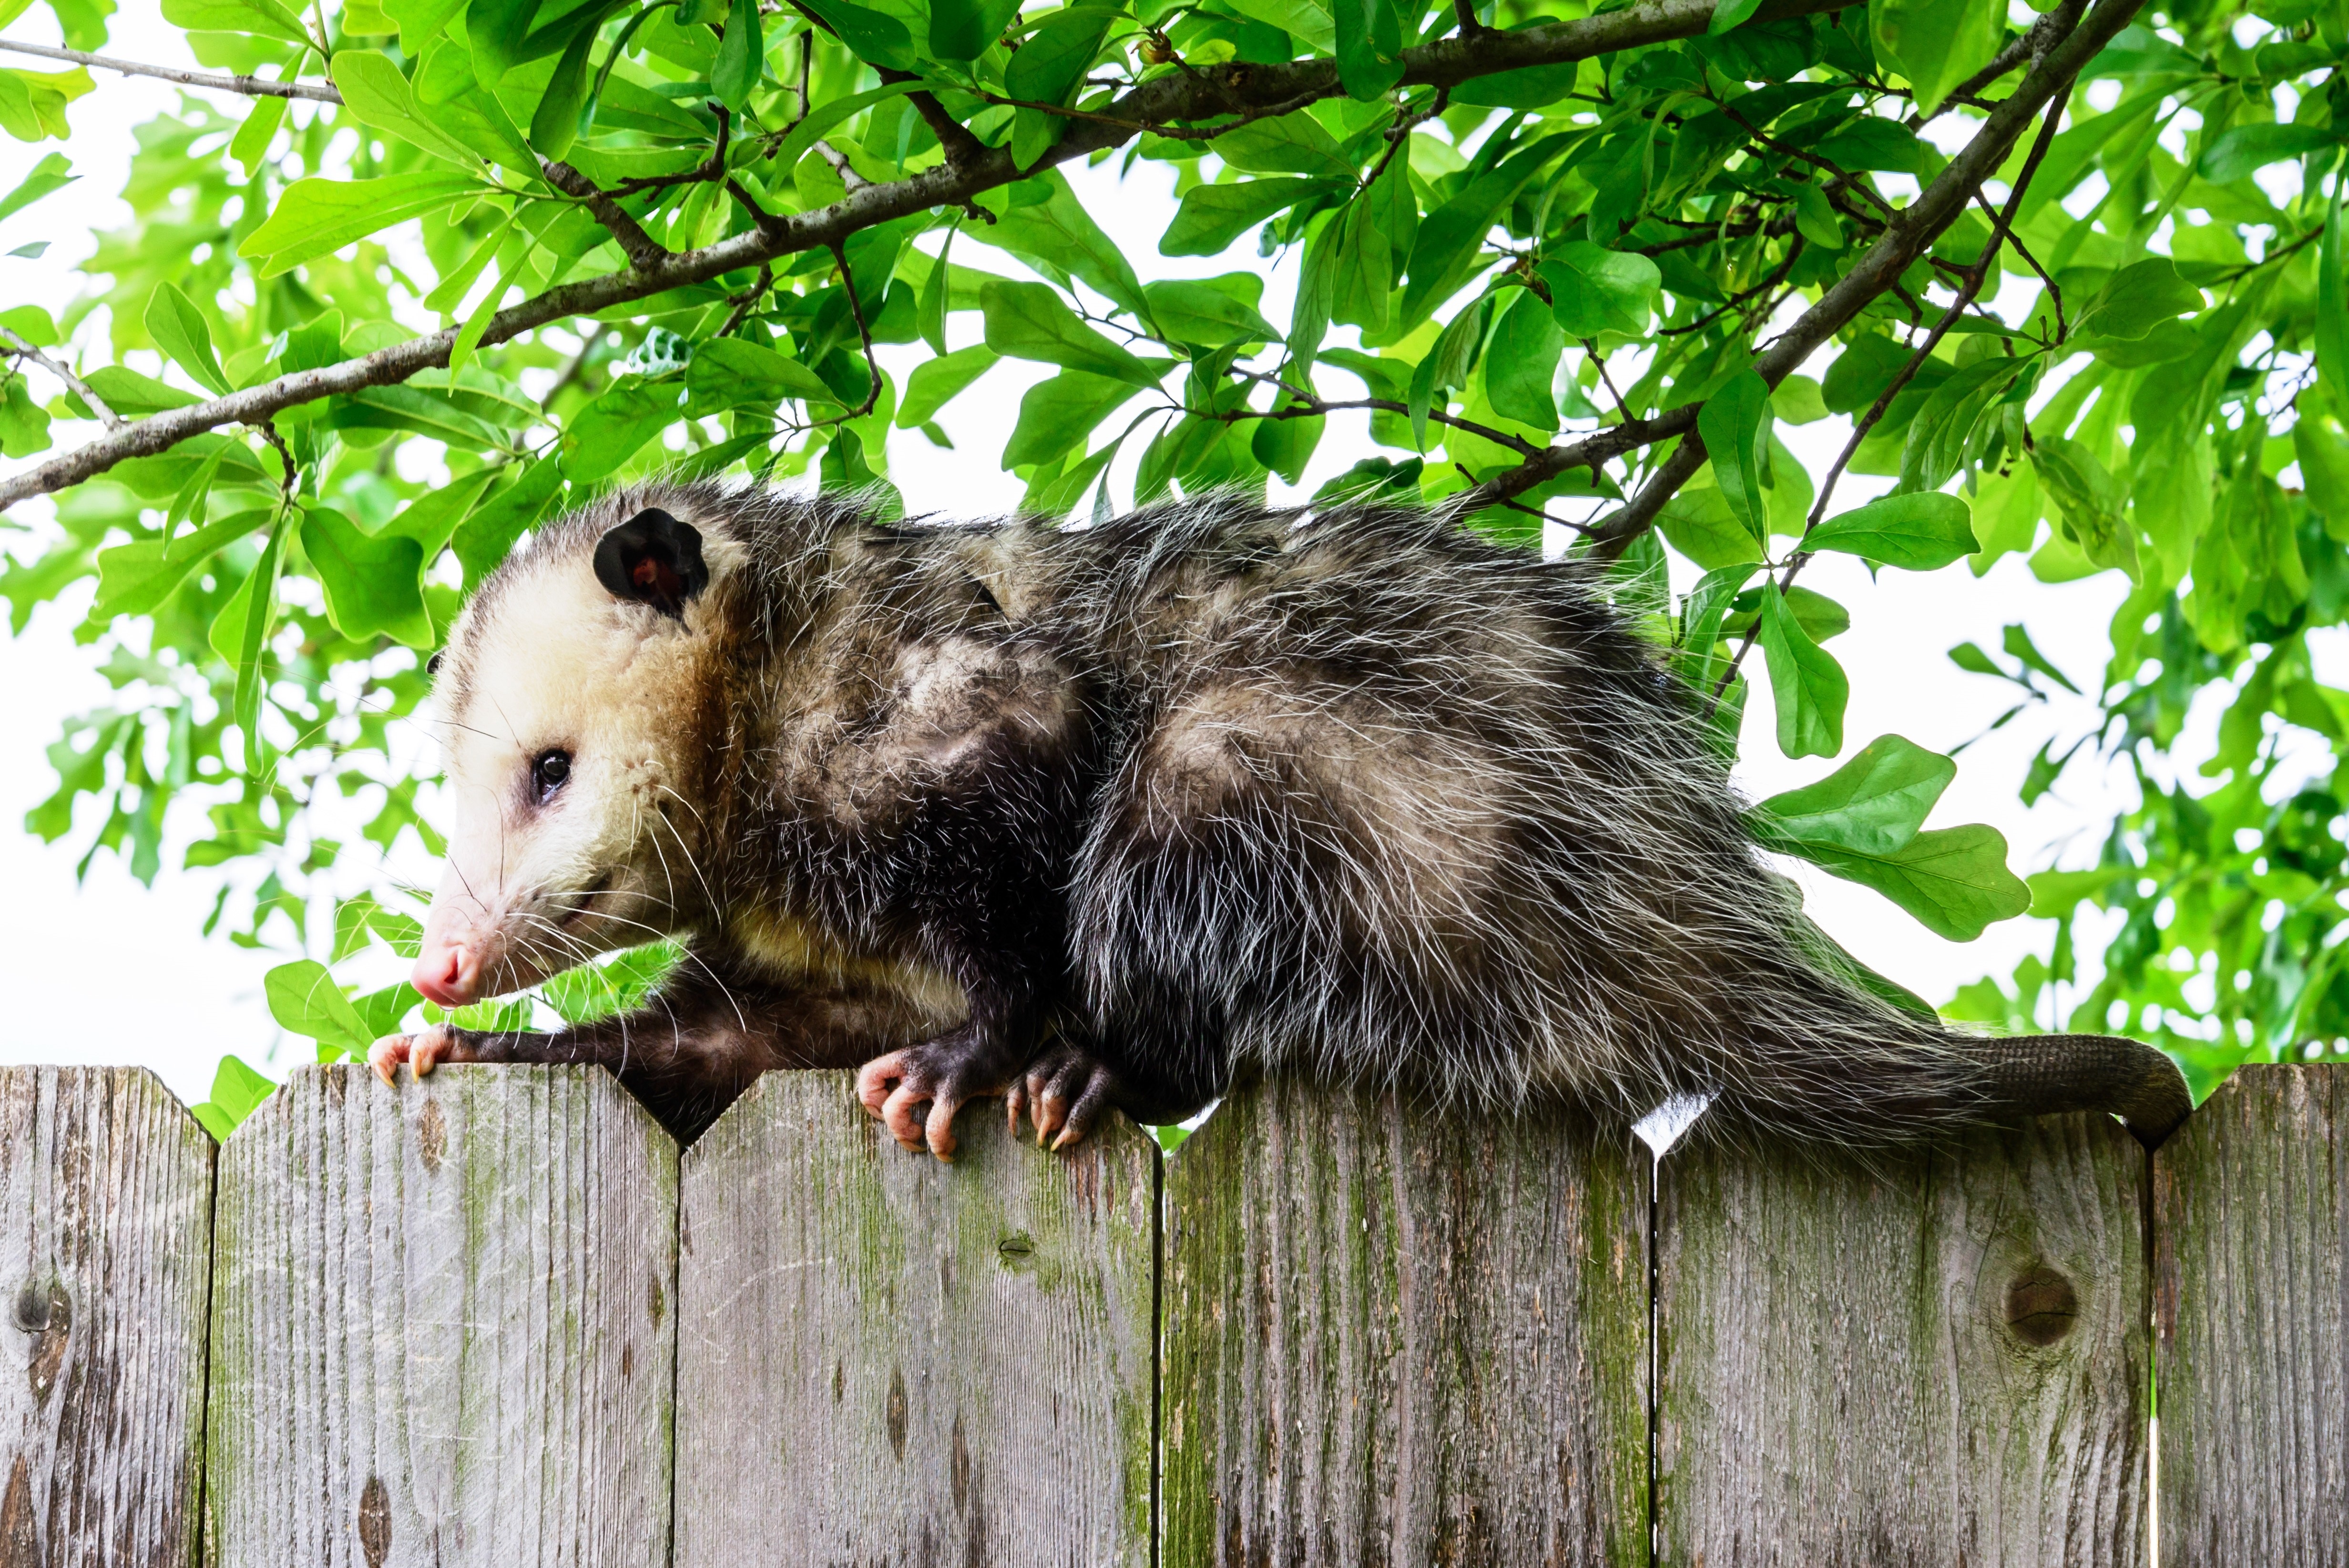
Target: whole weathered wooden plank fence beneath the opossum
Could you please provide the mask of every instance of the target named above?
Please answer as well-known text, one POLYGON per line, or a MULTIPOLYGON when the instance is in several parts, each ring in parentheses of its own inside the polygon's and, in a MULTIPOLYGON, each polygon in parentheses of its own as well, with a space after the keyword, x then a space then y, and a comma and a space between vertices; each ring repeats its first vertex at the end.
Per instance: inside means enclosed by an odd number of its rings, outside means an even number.
POLYGON ((0 1568, 2335 1566, 2344 1117, 1656 1164, 1271 1084, 942 1167, 841 1073, 679 1157, 576 1068, 305 1068, 218 1150, 0 1068, 0 1568))

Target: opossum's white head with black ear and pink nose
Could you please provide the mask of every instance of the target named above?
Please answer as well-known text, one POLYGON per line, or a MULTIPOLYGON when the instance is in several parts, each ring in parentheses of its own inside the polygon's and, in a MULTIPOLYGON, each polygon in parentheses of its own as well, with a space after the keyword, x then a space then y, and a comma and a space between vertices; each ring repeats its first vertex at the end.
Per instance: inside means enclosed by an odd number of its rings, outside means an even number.
POLYGON ((679 512, 691 493, 615 495, 540 530, 451 634, 435 702, 456 819, 416 960, 442 1007, 707 913, 693 796, 738 547, 679 512))

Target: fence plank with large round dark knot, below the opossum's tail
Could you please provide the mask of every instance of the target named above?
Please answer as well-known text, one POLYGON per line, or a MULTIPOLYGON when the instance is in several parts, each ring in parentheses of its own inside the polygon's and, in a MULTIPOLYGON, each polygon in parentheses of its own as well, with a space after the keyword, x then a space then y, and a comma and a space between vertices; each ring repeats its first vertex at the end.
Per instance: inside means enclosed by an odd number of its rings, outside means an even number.
POLYGON ((2145 1155, 2048 1117, 1658 1176, 1658 1561, 2145 1561, 2145 1155))

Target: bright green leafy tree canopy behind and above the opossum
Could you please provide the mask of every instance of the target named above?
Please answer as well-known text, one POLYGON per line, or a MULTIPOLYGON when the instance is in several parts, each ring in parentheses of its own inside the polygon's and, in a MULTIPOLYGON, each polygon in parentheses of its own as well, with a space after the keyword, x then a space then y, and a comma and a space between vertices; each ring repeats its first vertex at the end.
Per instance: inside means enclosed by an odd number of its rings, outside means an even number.
MULTIPOLYGON (((106 47, 110 0, 47 5, 68 49, 106 47)), ((26 9, 0 0, 0 26, 26 9)), ((369 852, 439 850, 395 735, 463 592, 651 472, 888 509, 893 448, 947 441, 1005 357, 1052 369, 1003 451, 1031 512, 1297 484, 1351 420, 1384 451, 1322 498, 1442 502, 1527 549, 1562 523, 1729 753, 1846 749, 1849 613, 1797 582, 1813 552, 1950 592, 2006 554, 2126 575, 2100 728, 2022 782, 2081 751, 2135 770, 2095 871, 2025 887, 1990 829, 1926 829, 1952 763, 1900 737, 1755 826, 1952 939, 2062 922, 2051 965, 1968 988, 1964 1016, 2149 1030, 2206 1082, 2349 1035, 2342 784, 2288 758, 2349 744, 2311 660, 2349 617, 2349 0, 164 16, 216 80, 139 129, 134 218, 87 291, 0 310, 0 453, 26 460, 0 507, 56 495, 0 596, 21 629, 94 580, 80 636, 115 685, 52 746, 28 826, 63 838, 92 796, 89 854, 153 878, 167 810, 197 805, 207 930, 305 955, 270 1000, 324 1054, 413 1012, 329 965, 416 922, 388 890, 329 897, 345 845, 315 807, 359 798, 369 852), (1104 160, 1172 167, 1165 256, 1252 258, 1146 277, 1062 171, 1104 160), (1261 258, 1297 277, 1285 319, 1261 258), (886 343, 928 345, 902 385, 886 343), (1858 434, 1813 479, 1778 425, 1828 413, 1858 434), (1891 495, 1837 505, 1844 472, 1891 495), (2203 690, 2227 709, 2187 789, 2168 753, 2203 690), (2126 925, 2060 1019, 2088 904, 2126 925)), ((0 131, 66 143, 0 218, 75 178, 92 92, 80 63, 0 68, 0 131)), ((2020 627, 1952 657, 2018 707, 2088 681, 2020 627)), ((540 1005, 625 1002, 665 960, 540 1005)), ((254 1084, 223 1068, 211 1120, 254 1084)))

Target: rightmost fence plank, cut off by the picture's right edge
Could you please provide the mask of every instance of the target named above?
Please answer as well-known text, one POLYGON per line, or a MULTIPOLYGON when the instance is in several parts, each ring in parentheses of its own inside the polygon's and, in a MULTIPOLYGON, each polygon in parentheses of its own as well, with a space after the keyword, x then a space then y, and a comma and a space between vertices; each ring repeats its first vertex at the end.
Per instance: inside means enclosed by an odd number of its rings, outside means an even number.
POLYGON ((2349 1561, 2349 1068, 2246 1066, 2154 1155, 2166 1568, 2349 1561))

